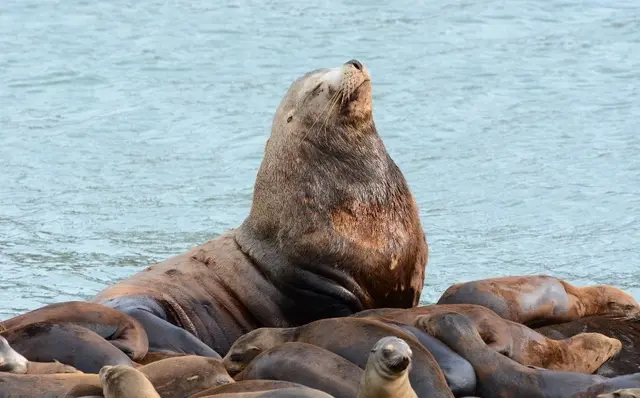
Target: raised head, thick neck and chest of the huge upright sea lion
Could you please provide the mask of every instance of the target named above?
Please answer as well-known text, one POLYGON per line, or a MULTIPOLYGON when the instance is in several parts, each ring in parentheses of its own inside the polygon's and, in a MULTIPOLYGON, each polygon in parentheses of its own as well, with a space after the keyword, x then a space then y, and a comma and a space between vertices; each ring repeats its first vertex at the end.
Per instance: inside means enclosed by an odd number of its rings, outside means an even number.
POLYGON ((250 215, 235 236, 282 293, 283 326, 418 303, 425 234, 378 135, 361 62, 316 69, 291 84, 273 118, 250 215))

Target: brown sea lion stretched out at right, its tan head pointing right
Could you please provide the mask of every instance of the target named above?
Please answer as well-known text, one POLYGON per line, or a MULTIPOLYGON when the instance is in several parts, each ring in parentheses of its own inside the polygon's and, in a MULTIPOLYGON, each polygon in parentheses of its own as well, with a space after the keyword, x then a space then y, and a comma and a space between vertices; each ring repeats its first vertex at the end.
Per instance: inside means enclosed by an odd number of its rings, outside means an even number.
MULTIPOLYGON (((553 340, 527 326, 503 319, 486 307, 474 304, 436 304, 401 310, 373 309, 354 317, 415 325, 418 317, 446 312, 467 316, 489 347, 522 365, 593 373, 622 347, 620 341, 599 333, 581 333, 571 338, 553 340)), ((444 358, 440 361, 447 363, 447 357, 444 358)))

